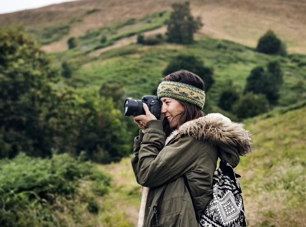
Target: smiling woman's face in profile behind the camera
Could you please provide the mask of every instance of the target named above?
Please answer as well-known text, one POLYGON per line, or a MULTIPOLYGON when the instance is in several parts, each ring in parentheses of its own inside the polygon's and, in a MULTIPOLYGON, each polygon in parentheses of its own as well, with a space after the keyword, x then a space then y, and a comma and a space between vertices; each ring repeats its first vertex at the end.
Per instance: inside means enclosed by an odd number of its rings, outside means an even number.
POLYGON ((177 128, 177 122, 184 111, 182 104, 176 99, 172 98, 161 98, 162 108, 161 112, 165 115, 165 118, 169 122, 171 129, 177 128))

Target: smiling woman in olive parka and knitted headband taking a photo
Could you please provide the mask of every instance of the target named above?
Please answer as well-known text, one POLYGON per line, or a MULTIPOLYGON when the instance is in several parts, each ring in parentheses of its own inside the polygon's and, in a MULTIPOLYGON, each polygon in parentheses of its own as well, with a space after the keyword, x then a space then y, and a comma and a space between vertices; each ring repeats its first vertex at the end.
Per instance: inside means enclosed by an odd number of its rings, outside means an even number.
POLYGON ((203 115, 204 83, 194 73, 169 74, 157 95, 162 120, 145 104, 146 114, 133 117, 141 130, 132 166, 144 186, 138 226, 198 226, 212 198, 218 157, 236 167, 239 155, 251 151, 249 132, 219 113, 203 115))

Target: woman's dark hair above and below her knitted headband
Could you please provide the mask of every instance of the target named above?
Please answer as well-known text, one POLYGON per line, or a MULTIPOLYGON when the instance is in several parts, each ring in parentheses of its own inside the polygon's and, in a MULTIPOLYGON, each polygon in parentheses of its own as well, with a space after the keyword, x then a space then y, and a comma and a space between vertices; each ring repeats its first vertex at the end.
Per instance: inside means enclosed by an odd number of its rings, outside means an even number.
MULTIPOLYGON (((198 75, 189 72, 187 70, 180 70, 173 72, 167 75, 162 81, 175 81, 175 82, 187 83, 203 91, 205 88, 203 80, 198 75)), ((181 117, 177 120, 178 121, 177 128, 179 128, 185 122, 204 116, 204 113, 198 106, 180 100, 177 101, 179 101, 184 107, 184 111, 181 113, 181 117)), ((172 131, 170 125, 167 119, 163 118, 162 121, 163 121, 164 132, 166 133, 166 136, 169 136, 172 131)))

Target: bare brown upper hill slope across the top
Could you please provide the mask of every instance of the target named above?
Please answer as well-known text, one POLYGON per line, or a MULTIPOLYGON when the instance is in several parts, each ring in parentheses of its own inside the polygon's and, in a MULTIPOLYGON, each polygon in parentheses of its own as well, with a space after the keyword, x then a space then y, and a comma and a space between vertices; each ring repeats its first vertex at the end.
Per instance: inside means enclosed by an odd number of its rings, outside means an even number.
MULTIPOLYGON (((33 29, 69 24, 69 35, 45 47, 46 51, 67 49, 71 36, 81 36, 101 26, 129 18, 171 10, 174 0, 81 0, 0 15, 0 25, 24 23, 33 29), (77 21, 77 22, 75 22, 77 21)), ((251 47, 268 29, 287 42, 290 52, 306 53, 306 1, 284 0, 192 0, 192 13, 201 16, 205 26, 198 36, 212 36, 251 47)))

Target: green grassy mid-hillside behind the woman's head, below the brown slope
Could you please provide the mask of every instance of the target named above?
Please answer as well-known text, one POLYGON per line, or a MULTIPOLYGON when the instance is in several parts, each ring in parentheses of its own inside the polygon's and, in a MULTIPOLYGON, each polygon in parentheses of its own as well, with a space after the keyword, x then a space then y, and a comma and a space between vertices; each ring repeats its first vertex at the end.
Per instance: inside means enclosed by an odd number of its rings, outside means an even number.
MULTIPOLYGON (((99 87, 104 81, 123 83, 128 95, 140 98, 157 86, 162 71, 171 58, 178 54, 194 54, 206 66, 214 69, 215 84, 207 94, 207 101, 216 105, 227 79, 232 79, 234 86, 242 93, 246 78, 256 66, 264 66, 270 61, 278 60, 284 72, 284 84, 280 91, 279 105, 287 106, 303 99, 306 86, 303 86, 306 71, 298 62, 278 55, 256 52, 246 46, 217 39, 197 40, 193 45, 177 45, 170 48, 161 44, 143 49, 141 45, 132 44, 119 49, 104 52, 90 64, 80 67, 74 79, 82 81, 80 86, 99 87), (220 43, 226 47, 220 48, 220 43), (177 47, 177 48, 176 48, 177 47), (135 56, 137 53, 139 56, 135 56)), ((83 54, 85 56, 85 54, 83 54)), ((303 55, 296 57, 304 58, 303 55)))

